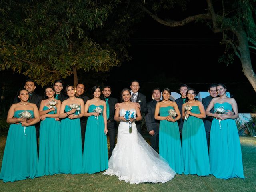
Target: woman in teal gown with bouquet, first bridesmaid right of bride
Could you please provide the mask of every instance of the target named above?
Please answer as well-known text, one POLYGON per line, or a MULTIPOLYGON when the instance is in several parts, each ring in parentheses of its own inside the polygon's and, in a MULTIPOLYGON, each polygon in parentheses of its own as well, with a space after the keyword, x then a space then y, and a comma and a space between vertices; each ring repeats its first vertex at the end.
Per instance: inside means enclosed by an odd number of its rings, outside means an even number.
POLYGON ((184 172, 181 154, 180 131, 177 120, 180 111, 176 102, 170 101, 171 91, 165 88, 162 91, 163 100, 156 104, 155 119, 160 120, 159 126, 159 155, 168 161, 169 166, 178 174, 184 172), (172 109, 177 113, 171 117, 168 111, 172 109), (160 113, 160 116, 159 116, 160 113))

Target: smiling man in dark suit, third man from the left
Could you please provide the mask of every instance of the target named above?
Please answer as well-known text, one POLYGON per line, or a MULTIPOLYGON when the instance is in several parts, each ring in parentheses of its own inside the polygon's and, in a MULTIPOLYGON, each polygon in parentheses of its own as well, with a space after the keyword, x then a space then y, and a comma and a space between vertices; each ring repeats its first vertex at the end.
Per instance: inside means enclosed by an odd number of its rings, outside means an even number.
MULTIPOLYGON (((88 96, 84 95, 85 92, 85 86, 82 83, 78 83, 75 87, 75 96, 77 98, 81 98, 84 101, 84 104, 89 99, 88 96)), ((81 117, 80 118, 80 124, 81 124, 81 138, 82 138, 82 151, 84 152, 84 137, 85 137, 85 131, 86 131, 86 123, 87 123, 88 117, 81 117)))

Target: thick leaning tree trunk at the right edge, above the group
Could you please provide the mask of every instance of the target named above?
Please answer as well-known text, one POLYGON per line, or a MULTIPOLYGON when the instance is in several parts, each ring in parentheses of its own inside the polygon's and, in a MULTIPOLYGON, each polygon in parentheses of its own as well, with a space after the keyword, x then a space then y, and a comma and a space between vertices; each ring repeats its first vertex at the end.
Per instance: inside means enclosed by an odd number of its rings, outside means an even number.
POLYGON ((240 52, 240 60, 243 67, 244 75, 249 80, 250 84, 256 92, 256 75, 252 68, 252 62, 250 58, 249 44, 247 40, 246 32, 240 27, 238 30, 233 31, 236 34, 239 42, 238 51, 240 52))

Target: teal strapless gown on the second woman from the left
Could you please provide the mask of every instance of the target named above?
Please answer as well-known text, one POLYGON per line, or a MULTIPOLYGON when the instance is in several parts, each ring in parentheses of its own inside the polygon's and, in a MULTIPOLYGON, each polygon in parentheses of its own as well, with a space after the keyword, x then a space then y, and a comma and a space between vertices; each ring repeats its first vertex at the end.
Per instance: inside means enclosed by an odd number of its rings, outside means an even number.
MULTIPOLYGON (((44 106, 43 110, 48 110, 44 106)), ((50 111, 48 114, 54 114, 50 111)), ((60 121, 46 117, 40 123, 39 158, 37 177, 60 172, 60 121)))

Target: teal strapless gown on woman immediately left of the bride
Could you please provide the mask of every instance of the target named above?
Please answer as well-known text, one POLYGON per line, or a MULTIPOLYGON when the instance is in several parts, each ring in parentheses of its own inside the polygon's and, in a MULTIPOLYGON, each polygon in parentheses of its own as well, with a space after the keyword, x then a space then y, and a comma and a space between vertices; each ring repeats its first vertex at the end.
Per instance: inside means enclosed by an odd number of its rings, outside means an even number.
MULTIPOLYGON (((90 105, 89 112, 93 112, 97 106, 90 105)), ((100 105, 100 108, 103 106, 100 105)), ((102 113, 95 118, 89 116, 86 125, 84 139, 83 173, 96 173, 108 168, 107 136, 104 134, 104 119, 102 113)))

